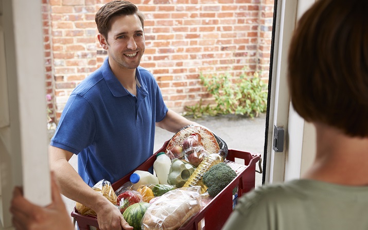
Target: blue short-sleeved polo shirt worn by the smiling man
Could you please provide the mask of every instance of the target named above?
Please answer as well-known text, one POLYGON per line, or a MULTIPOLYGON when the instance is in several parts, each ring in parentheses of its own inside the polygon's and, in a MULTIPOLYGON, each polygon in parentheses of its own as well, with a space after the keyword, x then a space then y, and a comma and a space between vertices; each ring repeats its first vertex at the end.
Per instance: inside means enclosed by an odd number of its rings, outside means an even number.
POLYGON ((108 58, 72 92, 51 146, 78 155, 78 173, 90 186, 116 182, 153 154, 155 122, 168 111, 153 75, 136 69, 137 96, 112 73, 108 58))

